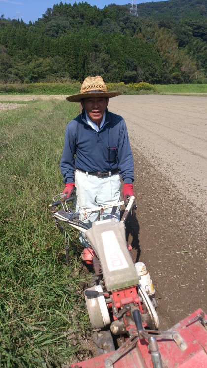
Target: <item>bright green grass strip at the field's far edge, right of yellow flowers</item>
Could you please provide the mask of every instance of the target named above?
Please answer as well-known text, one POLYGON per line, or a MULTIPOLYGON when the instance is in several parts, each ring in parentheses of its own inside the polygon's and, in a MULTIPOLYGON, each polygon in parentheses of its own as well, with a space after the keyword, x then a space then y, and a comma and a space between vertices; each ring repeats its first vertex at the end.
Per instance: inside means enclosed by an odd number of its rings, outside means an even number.
POLYGON ((156 84, 155 88, 160 94, 207 94, 207 84, 156 84))

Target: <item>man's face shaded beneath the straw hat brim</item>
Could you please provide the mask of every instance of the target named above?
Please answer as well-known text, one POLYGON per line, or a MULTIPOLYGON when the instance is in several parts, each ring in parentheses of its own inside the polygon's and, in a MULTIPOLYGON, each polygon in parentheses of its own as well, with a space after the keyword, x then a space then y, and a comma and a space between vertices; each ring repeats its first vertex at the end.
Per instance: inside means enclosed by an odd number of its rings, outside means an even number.
POLYGON ((84 98, 81 102, 83 108, 85 108, 90 120, 97 124, 100 124, 104 116, 106 107, 108 106, 108 97, 89 97, 84 98))

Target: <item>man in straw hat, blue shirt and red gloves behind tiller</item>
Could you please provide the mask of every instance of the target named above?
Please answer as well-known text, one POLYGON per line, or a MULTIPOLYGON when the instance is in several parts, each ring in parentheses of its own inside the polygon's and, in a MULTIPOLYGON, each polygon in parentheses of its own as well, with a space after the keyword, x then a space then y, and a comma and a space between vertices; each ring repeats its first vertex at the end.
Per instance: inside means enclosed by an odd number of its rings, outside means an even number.
MULTIPOLYGON (((61 172, 63 194, 68 197, 77 190, 76 211, 120 201, 120 177, 124 181, 123 196, 133 192, 133 156, 124 119, 108 111, 109 98, 121 92, 109 92, 100 76, 87 77, 80 93, 66 99, 80 102, 82 113, 66 127, 61 172)), ((100 219, 111 218, 111 209, 100 219)), ((119 221, 120 210, 113 215, 119 221)), ((99 218, 93 213, 85 220, 89 226, 99 218)))

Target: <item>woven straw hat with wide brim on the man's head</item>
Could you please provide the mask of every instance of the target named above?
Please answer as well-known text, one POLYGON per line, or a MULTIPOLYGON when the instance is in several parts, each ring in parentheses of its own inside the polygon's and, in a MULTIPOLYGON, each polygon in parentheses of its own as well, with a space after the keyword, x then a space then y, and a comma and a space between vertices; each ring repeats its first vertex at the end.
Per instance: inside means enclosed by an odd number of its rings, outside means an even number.
POLYGON ((87 97, 116 97, 122 92, 108 92, 104 80, 101 76, 87 76, 80 88, 80 93, 66 97, 71 102, 81 102, 82 98, 87 97))

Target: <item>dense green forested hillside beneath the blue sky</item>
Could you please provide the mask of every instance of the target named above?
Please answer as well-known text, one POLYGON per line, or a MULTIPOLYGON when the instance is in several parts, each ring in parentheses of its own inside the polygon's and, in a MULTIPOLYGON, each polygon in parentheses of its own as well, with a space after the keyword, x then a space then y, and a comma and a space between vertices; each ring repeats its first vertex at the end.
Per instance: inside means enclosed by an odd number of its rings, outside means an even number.
POLYGON ((35 22, 0 18, 0 82, 207 83, 207 0, 99 9, 87 2, 45 9, 35 22))

